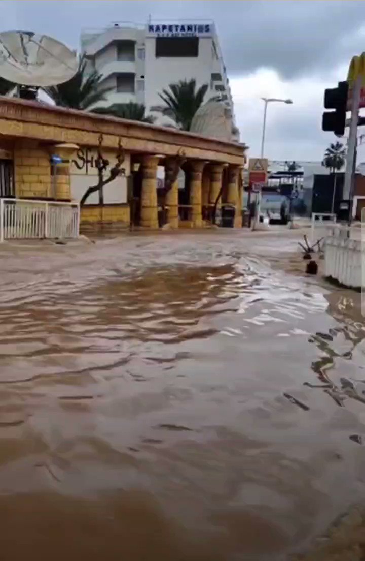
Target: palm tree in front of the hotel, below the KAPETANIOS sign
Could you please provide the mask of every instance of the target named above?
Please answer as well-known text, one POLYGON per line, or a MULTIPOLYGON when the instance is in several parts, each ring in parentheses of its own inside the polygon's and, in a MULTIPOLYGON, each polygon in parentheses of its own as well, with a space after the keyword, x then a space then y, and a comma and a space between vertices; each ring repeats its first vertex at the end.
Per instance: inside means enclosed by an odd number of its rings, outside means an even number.
POLYGON ((169 88, 170 91, 162 90, 162 93, 158 94, 166 105, 156 107, 155 111, 160 111, 163 115, 174 119, 181 130, 189 131, 191 121, 208 91, 208 84, 203 84, 196 89, 196 81, 192 78, 191 80, 180 80, 177 84, 170 84, 169 88))

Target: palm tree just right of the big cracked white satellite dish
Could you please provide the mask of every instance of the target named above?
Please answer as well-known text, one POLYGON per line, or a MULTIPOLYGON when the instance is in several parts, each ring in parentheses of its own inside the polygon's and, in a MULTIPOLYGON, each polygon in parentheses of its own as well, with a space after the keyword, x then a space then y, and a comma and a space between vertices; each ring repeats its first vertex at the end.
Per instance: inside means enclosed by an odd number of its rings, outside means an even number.
POLYGON ((113 88, 100 88, 102 75, 92 71, 86 74, 87 59, 85 54, 79 59, 78 70, 71 80, 44 88, 56 105, 72 109, 88 109, 97 102, 105 101, 105 95, 113 88))

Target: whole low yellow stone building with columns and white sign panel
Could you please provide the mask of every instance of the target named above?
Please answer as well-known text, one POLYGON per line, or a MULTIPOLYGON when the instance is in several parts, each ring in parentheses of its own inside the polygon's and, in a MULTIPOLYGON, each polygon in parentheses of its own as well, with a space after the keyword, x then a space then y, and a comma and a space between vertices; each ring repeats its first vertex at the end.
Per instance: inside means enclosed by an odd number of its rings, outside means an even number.
POLYGON ((173 128, 0 98, 1 197, 80 201, 98 185, 98 155, 107 162, 105 178, 118 168, 82 205, 81 231, 131 224, 158 228, 157 176, 163 167, 163 208, 171 228, 209 226, 216 203, 236 209, 239 227, 246 149, 173 128), (176 173, 170 174, 173 181, 166 188, 171 168, 181 169, 184 181, 181 185, 176 173))

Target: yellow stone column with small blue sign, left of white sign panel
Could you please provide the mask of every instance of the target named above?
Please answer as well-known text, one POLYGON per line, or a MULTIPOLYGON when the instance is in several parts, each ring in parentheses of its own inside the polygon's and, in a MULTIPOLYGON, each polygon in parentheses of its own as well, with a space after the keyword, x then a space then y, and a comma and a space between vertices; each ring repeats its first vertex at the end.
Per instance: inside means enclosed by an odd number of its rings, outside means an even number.
POLYGON ((70 183, 70 166, 72 157, 79 146, 77 144, 55 144, 49 148, 50 155, 59 156, 62 162, 51 164, 53 167, 53 176, 51 183, 51 192, 55 200, 72 200, 71 183, 70 183))

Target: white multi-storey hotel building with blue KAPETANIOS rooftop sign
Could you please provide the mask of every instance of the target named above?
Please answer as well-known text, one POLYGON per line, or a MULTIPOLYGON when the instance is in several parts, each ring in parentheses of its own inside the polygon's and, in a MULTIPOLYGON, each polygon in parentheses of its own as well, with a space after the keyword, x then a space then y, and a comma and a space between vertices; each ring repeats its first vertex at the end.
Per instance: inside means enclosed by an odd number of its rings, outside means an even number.
MULTIPOLYGON (((212 21, 159 21, 144 26, 113 22, 99 30, 81 34, 81 51, 90 70, 101 73, 101 88, 113 88, 105 102, 130 101, 146 105, 146 113, 163 105, 158 94, 169 84, 195 78, 197 87, 208 84, 208 100, 221 95, 234 112, 231 89, 212 21)), ((156 114, 157 123, 166 117, 156 114)))

